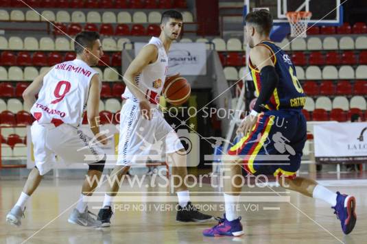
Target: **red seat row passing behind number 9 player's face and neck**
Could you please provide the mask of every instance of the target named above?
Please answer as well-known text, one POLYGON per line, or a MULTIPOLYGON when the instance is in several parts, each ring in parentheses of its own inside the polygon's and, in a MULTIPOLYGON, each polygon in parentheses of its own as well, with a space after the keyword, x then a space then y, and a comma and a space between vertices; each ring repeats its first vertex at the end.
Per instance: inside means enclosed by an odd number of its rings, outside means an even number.
MULTIPOLYGON (((60 62, 74 60, 75 52, 67 52, 65 54, 51 51, 48 54, 42 51, 29 53, 27 51, 3 51, 0 54, 0 65, 3 66, 54 66, 60 62)), ((98 63, 98 66, 121 66, 121 52, 113 53, 111 56, 104 53, 98 63)))

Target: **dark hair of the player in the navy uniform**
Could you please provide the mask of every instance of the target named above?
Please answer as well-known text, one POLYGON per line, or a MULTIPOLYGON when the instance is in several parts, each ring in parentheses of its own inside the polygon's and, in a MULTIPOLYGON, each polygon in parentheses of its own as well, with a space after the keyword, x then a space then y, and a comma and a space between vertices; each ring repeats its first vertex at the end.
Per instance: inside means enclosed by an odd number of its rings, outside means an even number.
POLYGON ((257 32, 269 34, 273 26, 273 17, 268 10, 249 12, 245 17, 246 23, 257 25, 257 32))

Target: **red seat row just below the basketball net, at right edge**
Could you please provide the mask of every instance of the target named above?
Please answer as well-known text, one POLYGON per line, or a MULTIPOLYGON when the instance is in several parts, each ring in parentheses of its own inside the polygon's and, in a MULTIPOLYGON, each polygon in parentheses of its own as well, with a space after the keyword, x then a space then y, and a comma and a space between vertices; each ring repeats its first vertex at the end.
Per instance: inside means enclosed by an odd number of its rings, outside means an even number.
POLYGON ((322 53, 312 51, 307 55, 303 51, 294 51, 292 53, 292 62, 294 65, 340 65, 340 64, 367 64, 367 51, 360 51, 358 55, 354 51, 329 51, 322 53))

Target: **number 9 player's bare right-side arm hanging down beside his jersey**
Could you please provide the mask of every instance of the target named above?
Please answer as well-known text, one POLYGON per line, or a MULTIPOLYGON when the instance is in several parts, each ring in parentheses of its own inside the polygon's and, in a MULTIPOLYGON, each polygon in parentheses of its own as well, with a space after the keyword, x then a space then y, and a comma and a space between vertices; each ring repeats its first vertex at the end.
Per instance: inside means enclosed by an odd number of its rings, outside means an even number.
POLYGON ((86 114, 88 116, 89 127, 97 140, 103 144, 107 143, 107 138, 103 134, 99 134, 99 97, 101 94, 102 82, 99 80, 98 74, 93 75, 89 88, 88 101, 86 102, 86 114))

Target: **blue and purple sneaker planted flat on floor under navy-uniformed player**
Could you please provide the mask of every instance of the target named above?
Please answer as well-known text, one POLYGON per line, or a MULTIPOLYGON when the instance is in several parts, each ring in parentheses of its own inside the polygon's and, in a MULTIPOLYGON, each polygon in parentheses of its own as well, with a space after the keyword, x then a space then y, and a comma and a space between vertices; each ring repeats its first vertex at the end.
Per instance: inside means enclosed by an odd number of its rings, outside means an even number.
POLYGON ((204 236, 241 236, 244 234, 244 228, 240 222, 241 217, 233 221, 228 221, 226 215, 224 218, 218 218, 219 223, 211 229, 206 229, 202 232, 204 236))

